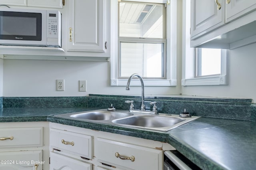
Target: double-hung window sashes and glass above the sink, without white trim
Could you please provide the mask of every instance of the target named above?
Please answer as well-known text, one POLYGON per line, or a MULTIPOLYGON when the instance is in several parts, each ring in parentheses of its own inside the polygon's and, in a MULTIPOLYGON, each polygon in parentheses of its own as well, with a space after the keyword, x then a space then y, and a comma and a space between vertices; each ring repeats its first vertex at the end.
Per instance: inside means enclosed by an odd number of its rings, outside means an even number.
POLYGON ((164 4, 121 1, 118 7, 118 77, 166 78, 164 4))

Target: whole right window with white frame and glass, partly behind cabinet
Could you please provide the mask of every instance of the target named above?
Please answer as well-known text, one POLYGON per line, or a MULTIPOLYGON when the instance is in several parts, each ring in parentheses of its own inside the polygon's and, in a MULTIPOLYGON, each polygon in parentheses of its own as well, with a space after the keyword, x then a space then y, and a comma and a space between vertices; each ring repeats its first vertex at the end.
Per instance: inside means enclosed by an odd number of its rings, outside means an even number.
POLYGON ((227 85, 228 50, 190 47, 190 0, 183 0, 182 85, 227 85))

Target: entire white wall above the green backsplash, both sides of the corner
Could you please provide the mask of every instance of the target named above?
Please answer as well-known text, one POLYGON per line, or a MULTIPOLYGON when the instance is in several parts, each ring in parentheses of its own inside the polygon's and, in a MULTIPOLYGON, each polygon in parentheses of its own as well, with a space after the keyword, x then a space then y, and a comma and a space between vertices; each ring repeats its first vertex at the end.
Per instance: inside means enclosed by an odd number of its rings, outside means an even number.
MULTIPOLYGON (((145 87, 145 96, 184 94, 256 100, 256 43, 230 50, 229 85, 180 87, 178 57, 177 87, 145 87)), ((180 53, 178 53, 180 56, 180 53)), ((110 62, 0 59, 0 96, 44 97, 88 94, 141 95, 140 87, 110 86, 110 62), (2 66, 3 71, 2 71, 2 66), (3 72, 3 78, 1 77, 3 72), (56 91, 56 79, 65 80, 65 91, 56 91), (3 92, 1 92, 3 80, 3 92), (87 80, 87 91, 78 91, 78 80, 87 80), (1 95, 1 93, 3 95, 1 95)))

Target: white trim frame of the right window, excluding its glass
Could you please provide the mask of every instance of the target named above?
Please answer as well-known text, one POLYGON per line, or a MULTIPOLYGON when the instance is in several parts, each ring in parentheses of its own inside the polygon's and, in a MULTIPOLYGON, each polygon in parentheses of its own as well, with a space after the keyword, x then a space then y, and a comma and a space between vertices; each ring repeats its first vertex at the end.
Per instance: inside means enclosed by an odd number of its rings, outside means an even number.
POLYGON ((182 18, 182 86, 228 85, 229 50, 221 50, 220 75, 196 77, 195 48, 190 47, 190 0, 183 0, 182 18), (189 21, 189 22, 188 22, 189 21), (189 26, 188 26, 189 25, 189 26))

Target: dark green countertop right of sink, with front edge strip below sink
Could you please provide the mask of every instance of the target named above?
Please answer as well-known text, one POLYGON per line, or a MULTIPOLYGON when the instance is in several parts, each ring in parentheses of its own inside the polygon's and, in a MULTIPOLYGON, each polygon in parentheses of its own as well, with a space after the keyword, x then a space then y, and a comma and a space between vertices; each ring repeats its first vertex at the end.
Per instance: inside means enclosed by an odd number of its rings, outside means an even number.
POLYGON ((201 117, 168 132, 48 116, 48 121, 168 142, 203 170, 255 170, 256 123, 201 117))

